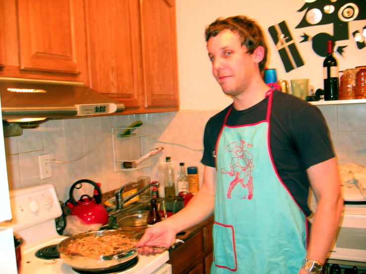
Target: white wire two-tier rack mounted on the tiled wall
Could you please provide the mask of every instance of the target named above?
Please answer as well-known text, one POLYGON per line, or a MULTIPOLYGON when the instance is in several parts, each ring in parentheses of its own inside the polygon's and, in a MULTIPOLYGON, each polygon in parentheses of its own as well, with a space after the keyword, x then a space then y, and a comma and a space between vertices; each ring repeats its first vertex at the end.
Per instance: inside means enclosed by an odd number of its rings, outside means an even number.
MULTIPOLYGON (((116 131, 117 128, 112 129, 116 131)), ((113 156, 114 156, 114 169, 115 171, 134 171, 142 168, 152 166, 153 159, 151 156, 144 159, 132 159, 133 155, 131 153, 130 159, 121 159, 120 153, 126 146, 130 145, 128 141, 131 138, 140 137, 140 147, 142 146, 142 138, 144 136, 149 136, 153 134, 153 126, 145 126, 138 128, 119 128, 113 134, 113 156), (127 133, 127 134, 126 134, 127 133)), ((130 149, 131 147, 129 147, 130 149)), ((142 155, 141 155, 142 156, 142 155)))

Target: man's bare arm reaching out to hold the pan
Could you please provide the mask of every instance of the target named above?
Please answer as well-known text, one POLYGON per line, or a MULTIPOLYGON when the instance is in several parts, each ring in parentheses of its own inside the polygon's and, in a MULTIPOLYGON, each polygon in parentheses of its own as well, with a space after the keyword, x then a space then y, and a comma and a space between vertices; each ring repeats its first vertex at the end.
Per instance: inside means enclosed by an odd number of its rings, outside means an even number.
POLYGON ((178 213, 148 228, 136 246, 140 254, 161 253, 147 246, 163 246, 168 248, 179 231, 190 228, 209 218, 213 213, 216 189, 216 169, 205 166, 204 182, 201 189, 178 213))

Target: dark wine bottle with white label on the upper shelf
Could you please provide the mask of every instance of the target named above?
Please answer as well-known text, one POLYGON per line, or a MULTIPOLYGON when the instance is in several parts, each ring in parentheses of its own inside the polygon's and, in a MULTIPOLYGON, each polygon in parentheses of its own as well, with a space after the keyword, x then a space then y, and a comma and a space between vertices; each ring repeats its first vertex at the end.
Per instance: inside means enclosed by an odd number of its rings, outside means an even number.
POLYGON ((324 100, 338 100, 339 69, 337 59, 333 56, 333 41, 327 42, 327 53, 323 62, 324 100))

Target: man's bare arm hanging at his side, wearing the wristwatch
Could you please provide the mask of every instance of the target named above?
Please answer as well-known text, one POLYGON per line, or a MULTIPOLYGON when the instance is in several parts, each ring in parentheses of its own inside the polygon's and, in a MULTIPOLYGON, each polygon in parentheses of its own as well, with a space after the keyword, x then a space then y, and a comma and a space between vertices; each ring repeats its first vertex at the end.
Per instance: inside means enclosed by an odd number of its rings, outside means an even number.
MULTIPOLYGON (((306 258, 324 264, 336 236, 343 208, 337 160, 332 158, 311 166, 307 173, 317 200, 317 208, 306 258)), ((303 273, 307 272, 302 269, 300 274, 303 273)))

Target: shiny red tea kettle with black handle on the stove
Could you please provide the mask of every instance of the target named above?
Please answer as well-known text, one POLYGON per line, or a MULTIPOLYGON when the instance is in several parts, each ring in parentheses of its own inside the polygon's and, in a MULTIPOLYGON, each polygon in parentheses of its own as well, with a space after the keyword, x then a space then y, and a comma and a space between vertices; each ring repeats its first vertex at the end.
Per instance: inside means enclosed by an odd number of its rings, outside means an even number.
POLYGON ((99 186, 91 180, 82 179, 75 182, 70 188, 70 199, 67 201, 66 206, 71 209, 70 215, 76 215, 86 224, 102 224, 105 225, 108 222, 108 213, 105 207, 101 204, 102 192, 99 186), (94 186, 94 189, 98 191, 96 199, 84 194, 80 197, 79 201, 75 201, 74 188, 80 183, 90 183, 94 186))

